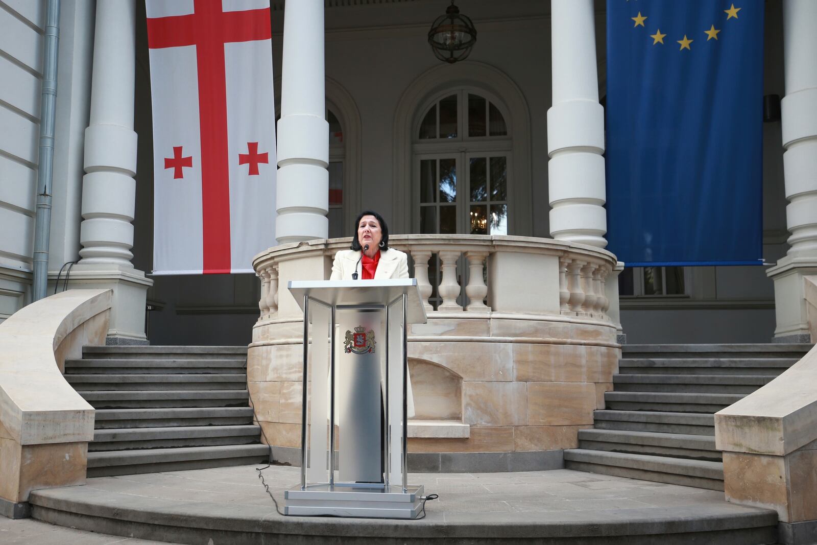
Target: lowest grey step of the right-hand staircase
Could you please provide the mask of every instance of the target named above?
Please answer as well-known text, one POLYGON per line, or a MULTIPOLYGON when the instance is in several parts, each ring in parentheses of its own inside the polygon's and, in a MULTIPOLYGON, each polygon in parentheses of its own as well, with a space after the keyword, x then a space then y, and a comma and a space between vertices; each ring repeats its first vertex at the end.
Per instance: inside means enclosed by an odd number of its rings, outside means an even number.
POLYGON ((671 485, 723 490, 723 463, 601 450, 565 450, 565 467, 671 485))

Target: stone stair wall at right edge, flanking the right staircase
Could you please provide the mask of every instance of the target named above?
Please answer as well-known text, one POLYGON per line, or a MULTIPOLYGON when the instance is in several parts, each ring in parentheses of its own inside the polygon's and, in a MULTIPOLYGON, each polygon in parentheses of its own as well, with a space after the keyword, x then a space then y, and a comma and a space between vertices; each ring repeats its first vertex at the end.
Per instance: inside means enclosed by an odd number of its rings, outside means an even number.
MULTIPOLYGON (((804 277, 812 342, 817 276, 804 277)), ((778 511, 780 543, 817 536, 817 346, 775 380, 715 414, 730 502, 778 511)))

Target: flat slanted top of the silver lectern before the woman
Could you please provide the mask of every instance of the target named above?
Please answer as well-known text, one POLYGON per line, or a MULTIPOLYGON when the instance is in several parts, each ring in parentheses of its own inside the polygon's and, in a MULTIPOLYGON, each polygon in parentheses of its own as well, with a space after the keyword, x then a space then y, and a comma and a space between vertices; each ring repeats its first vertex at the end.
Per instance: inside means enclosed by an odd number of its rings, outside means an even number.
POLYGON ((426 308, 420 300, 417 279, 385 280, 290 280, 289 292, 303 310, 308 295, 328 305, 386 305, 404 293, 408 296, 409 324, 425 324, 426 308))

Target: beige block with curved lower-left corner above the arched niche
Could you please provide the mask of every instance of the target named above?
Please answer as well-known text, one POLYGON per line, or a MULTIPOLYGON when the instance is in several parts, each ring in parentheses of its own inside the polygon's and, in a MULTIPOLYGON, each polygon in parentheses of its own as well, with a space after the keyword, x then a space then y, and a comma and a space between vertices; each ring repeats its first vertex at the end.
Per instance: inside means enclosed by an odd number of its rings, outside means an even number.
POLYGON ((408 357, 443 365, 466 381, 513 380, 513 346, 508 342, 409 342, 408 357))

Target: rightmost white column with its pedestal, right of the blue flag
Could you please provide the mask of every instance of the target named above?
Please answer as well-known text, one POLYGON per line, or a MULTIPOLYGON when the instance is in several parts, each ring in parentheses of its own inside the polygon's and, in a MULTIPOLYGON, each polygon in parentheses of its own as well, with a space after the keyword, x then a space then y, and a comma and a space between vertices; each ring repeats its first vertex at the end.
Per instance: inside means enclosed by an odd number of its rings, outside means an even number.
POLYGON ((810 339, 803 276, 817 274, 817 2, 784 3, 786 96, 782 111, 786 223, 791 235, 786 257, 768 270, 775 280, 775 337, 810 339))

